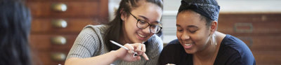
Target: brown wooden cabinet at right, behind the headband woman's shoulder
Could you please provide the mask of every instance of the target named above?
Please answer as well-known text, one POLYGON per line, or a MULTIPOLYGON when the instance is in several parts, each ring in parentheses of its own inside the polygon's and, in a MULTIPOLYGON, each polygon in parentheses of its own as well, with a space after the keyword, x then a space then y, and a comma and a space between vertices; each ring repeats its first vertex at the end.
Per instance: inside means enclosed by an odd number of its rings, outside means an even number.
POLYGON ((256 64, 281 64, 280 13, 220 13, 218 31, 240 38, 256 64))

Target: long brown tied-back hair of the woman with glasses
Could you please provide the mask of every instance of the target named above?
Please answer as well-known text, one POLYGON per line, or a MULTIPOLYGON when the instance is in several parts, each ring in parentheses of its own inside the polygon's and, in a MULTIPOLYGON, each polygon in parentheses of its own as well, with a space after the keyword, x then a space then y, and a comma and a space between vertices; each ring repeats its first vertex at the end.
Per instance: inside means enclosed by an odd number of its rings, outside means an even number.
MULTIPOLYGON (((108 23, 110 27, 105 31, 104 43, 107 46, 108 50, 117 50, 119 47, 116 45, 112 45, 110 41, 119 42, 119 34, 123 34, 122 31, 122 20, 121 15, 124 13, 128 13, 124 16, 129 16, 132 8, 137 8, 139 5, 137 4, 141 0, 122 0, 119 4, 119 8, 117 12, 115 12, 115 18, 108 23)), ((155 3, 157 6, 162 8, 163 10, 163 1, 162 0, 145 0, 146 2, 155 3)), ((161 32, 161 31, 160 31, 161 32)))

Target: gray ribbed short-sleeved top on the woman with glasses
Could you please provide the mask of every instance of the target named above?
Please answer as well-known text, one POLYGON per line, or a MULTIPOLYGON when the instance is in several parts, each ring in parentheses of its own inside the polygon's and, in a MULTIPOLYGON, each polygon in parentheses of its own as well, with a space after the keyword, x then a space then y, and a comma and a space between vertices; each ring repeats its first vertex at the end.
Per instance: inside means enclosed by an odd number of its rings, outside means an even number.
MULTIPOLYGON (((70 57, 95 57, 103 55, 109 50, 105 43, 103 43, 103 37, 105 36, 105 30, 108 25, 88 25, 77 36, 70 52, 67 55, 67 59, 70 57)), ((150 60, 146 61, 143 57, 140 61, 136 62, 124 62, 122 60, 116 60, 112 64, 115 65, 156 65, 158 62, 159 54, 163 49, 162 39, 157 35, 153 35, 149 40, 146 47, 145 54, 148 55, 150 60)))

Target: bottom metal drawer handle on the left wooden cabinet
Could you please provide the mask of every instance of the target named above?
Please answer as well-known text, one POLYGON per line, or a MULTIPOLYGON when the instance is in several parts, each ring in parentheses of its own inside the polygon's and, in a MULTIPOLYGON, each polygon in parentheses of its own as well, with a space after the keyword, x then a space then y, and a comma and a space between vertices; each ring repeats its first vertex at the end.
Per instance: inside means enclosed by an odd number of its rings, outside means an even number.
POLYGON ((54 52, 51 54, 51 59, 58 62, 63 62, 66 59, 66 55, 62 52, 54 52))

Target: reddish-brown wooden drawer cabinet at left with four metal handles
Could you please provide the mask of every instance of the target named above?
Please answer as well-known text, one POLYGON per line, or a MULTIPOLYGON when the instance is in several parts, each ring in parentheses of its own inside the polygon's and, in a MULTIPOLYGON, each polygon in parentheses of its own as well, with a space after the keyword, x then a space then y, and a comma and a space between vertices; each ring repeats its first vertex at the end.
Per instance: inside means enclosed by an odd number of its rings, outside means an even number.
POLYGON ((79 32, 108 22, 107 0, 27 0, 32 13, 30 47, 34 65, 64 64, 79 32))

